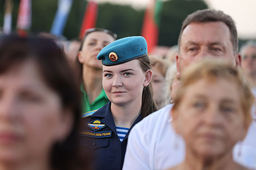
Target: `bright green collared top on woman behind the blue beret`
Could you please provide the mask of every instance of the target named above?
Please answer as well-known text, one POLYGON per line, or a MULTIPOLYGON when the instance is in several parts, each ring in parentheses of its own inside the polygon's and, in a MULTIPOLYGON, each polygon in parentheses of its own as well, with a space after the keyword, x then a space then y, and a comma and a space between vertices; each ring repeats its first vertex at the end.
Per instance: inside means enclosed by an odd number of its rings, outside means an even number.
POLYGON ((109 102, 105 91, 102 89, 100 95, 94 100, 93 103, 90 103, 86 91, 84 91, 83 85, 81 84, 82 92, 82 112, 88 112, 96 109, 102 108, 105 104, 109 102))

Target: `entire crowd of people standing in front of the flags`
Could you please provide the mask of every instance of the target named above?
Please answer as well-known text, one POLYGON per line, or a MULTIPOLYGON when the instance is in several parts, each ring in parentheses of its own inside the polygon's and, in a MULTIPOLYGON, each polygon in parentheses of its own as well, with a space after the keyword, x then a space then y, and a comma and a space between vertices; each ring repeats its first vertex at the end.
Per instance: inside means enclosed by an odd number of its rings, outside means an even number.
POLYGON ((256 169, 256 41, 198 10, 177 45, 0 35, 0 169, 256 169), (156 47, 157 48, 157 47, 156 47))

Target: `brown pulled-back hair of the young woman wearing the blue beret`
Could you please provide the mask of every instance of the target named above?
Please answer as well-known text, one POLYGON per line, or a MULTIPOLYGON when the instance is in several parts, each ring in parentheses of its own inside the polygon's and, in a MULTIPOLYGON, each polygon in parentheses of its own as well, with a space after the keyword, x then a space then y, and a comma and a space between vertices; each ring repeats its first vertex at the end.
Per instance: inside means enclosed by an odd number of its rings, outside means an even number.
MULTIPOLYGON (((148 56, 144 56, 137 60, 139 60, 139 66, 141 66, 141 69, 143 72, 152 69, 148 56)), ((142 112, 143 118, 153 113, 156 110, 157 110, 157 106, 153 99, 152 83, 150 82, 147 87, 143 88, 143 92, 142 92, 141 112, 142 112)))

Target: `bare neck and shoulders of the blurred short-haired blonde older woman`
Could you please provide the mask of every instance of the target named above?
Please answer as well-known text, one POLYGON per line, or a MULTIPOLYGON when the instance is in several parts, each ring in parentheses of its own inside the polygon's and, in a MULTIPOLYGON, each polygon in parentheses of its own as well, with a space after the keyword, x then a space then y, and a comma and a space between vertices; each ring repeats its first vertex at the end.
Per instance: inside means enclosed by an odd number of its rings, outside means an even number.
POLYGON ((186 158, 177 169, 182 170, 241 170, 246 169, 233 161, 232 153, 219 156, 215 159, 206 159, 205 156, 199 157, 192 152, 186 152, 186 158))

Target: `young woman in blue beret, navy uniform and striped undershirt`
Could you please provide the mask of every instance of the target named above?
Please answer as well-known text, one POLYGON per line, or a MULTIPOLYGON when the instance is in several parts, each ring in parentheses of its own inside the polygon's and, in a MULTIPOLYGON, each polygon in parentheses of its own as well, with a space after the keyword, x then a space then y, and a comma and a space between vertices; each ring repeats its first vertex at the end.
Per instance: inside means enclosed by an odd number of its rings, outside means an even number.
POLYGON ((156 111, 147 54, 144 37, 131 36, 110 43, 97 55, 110 102, 84 114, 80 131, 83 146, 95 156, 95 170, 122 169, 130 130, 156 111))

